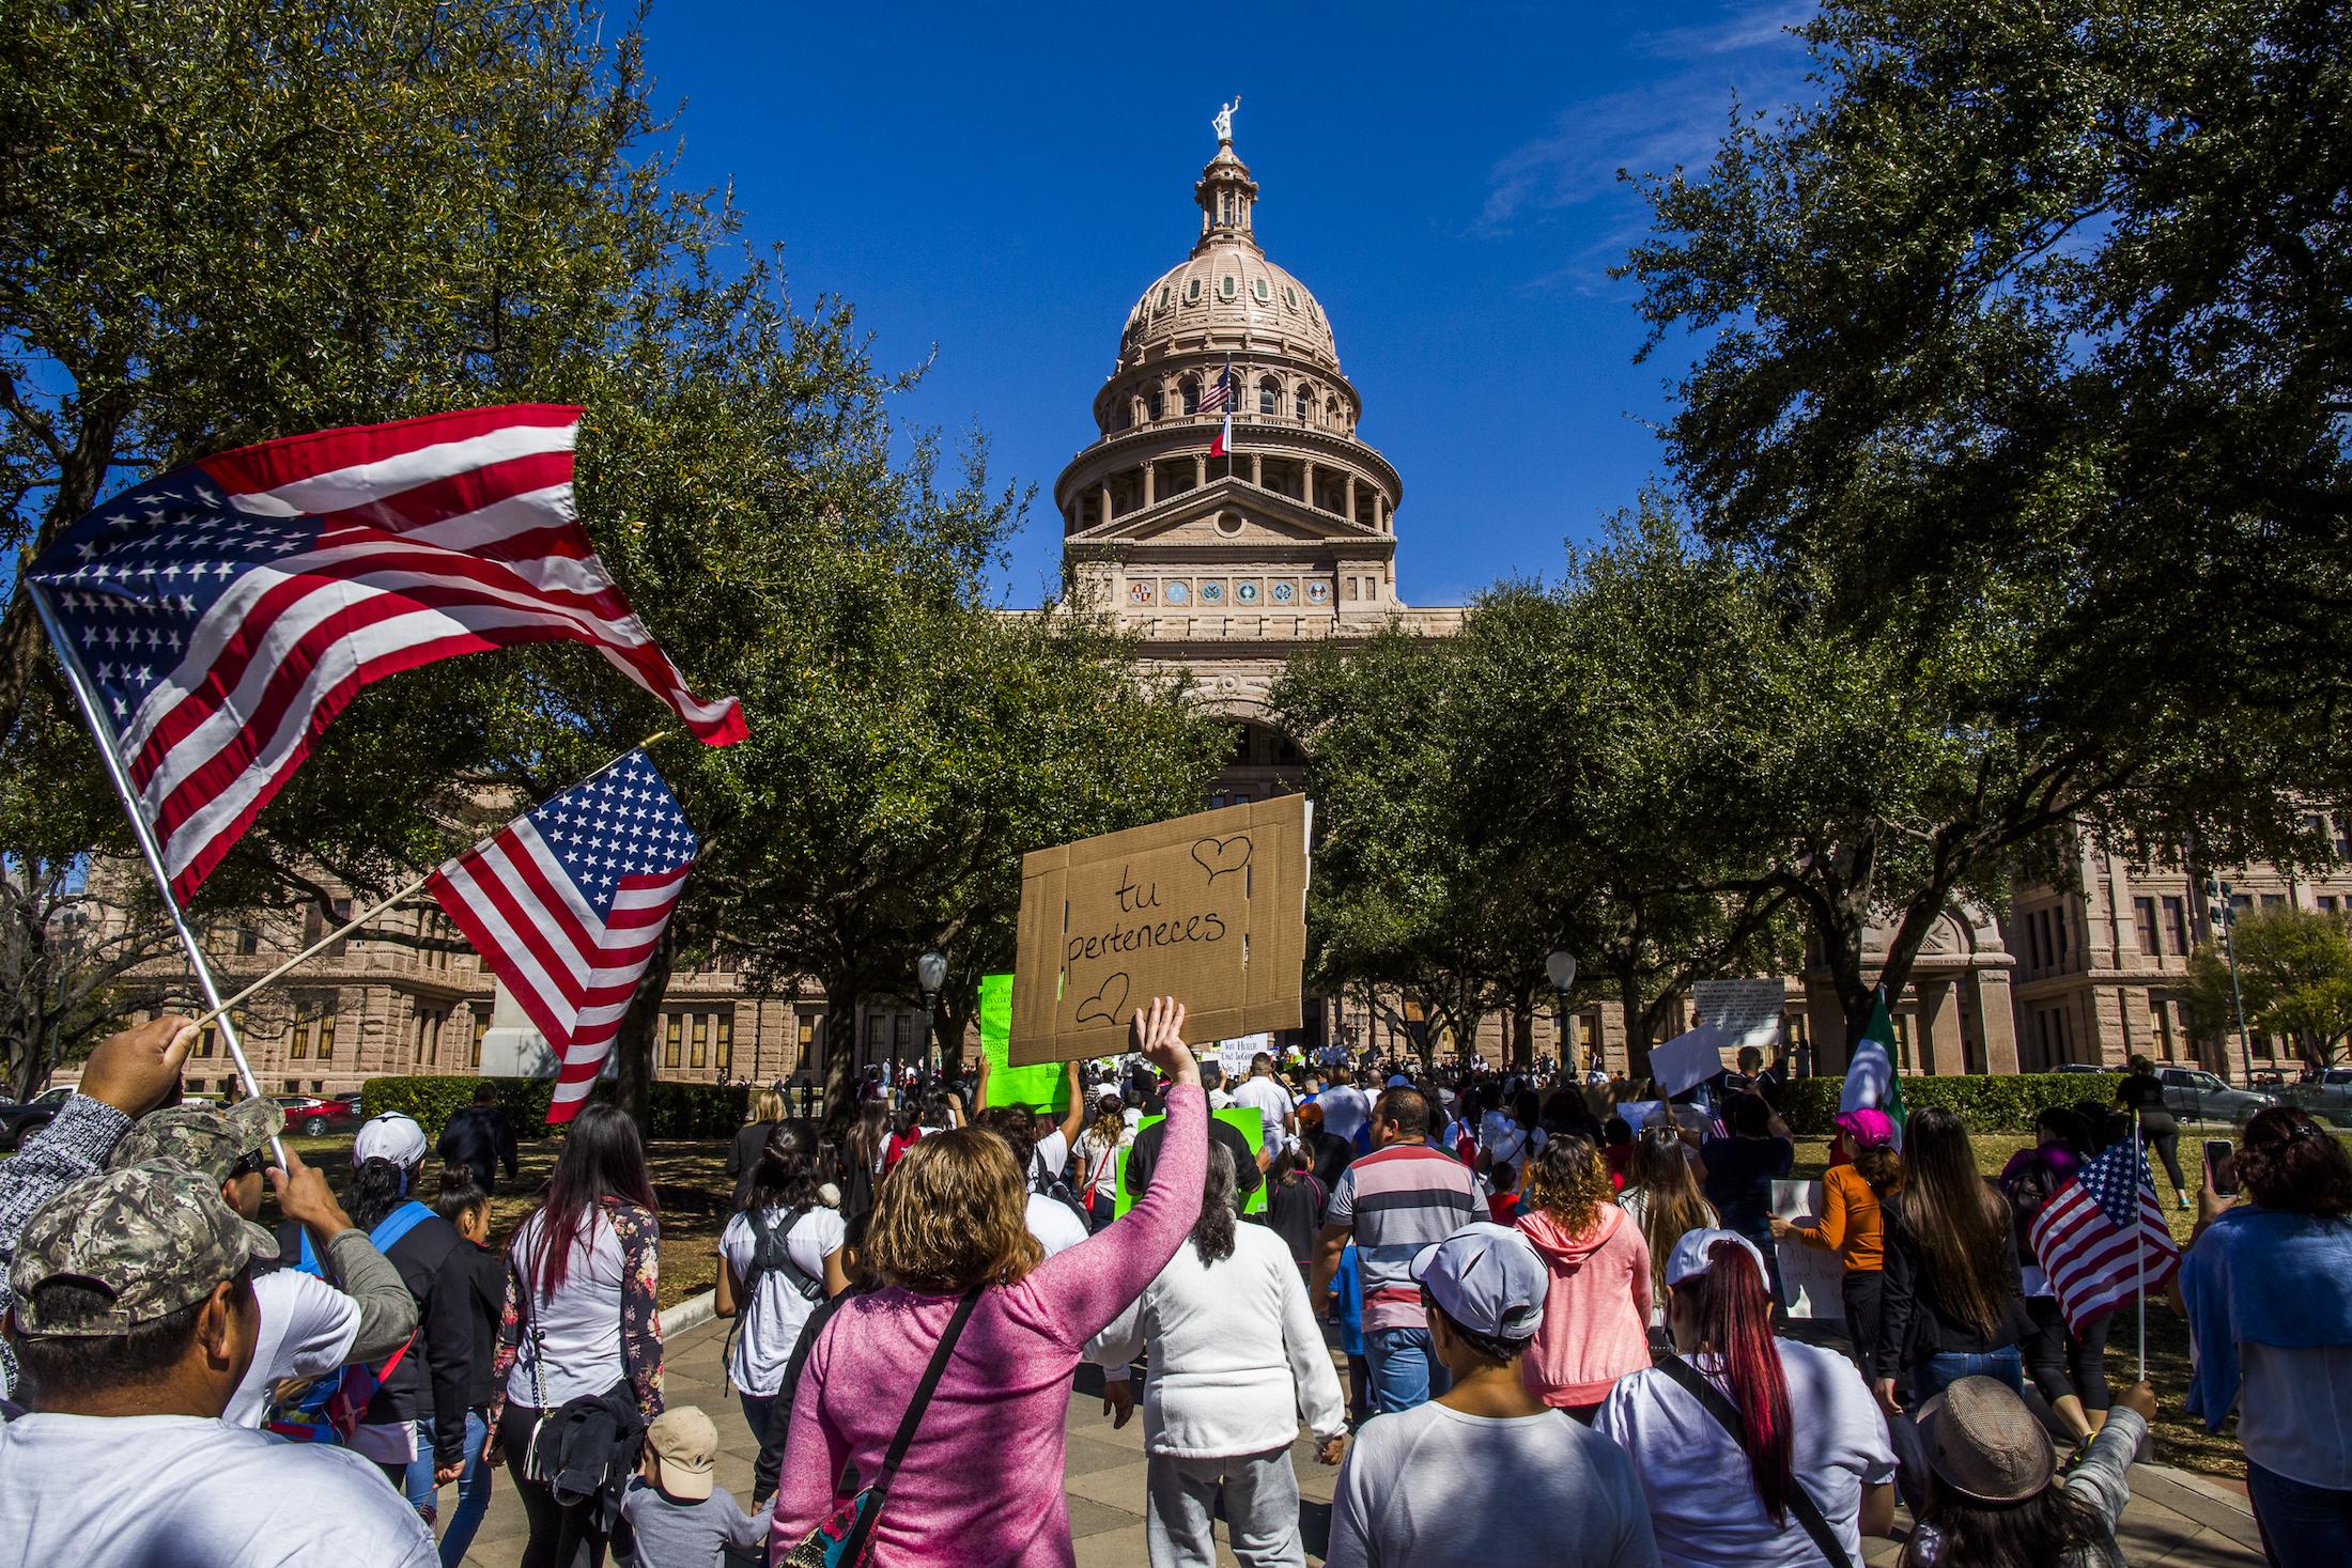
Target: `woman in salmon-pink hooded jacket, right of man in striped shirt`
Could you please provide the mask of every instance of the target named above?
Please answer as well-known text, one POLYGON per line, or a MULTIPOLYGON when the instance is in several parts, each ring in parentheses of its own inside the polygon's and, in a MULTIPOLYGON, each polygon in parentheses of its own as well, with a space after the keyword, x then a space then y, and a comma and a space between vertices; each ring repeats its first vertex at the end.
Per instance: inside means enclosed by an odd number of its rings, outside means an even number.
POLYGON ((1519 1234, 1552 1269, 1519 1380, 1590 1425, 1616 1380, 1649 1366, 1649 1244, 1616 1206, 1599 1150, 1566 1135, 1543 1145, 1526 1173, 1519 1234))

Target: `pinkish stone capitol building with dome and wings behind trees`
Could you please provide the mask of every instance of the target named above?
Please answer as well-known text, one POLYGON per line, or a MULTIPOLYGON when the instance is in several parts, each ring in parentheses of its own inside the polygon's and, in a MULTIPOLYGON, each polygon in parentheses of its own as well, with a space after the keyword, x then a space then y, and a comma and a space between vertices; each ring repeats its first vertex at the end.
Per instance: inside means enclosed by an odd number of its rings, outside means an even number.
MULTIPOLYGON (((1322 303, 1258 240, 1258 181, 1235 153, 1230 108, 1216 129, 1216 155, 1192 183, 1190 252, 1127 313, 1117 357, 1094 390, 1094 440, 1054 482, 1054 508, 1065 595, 1117 616, 1152 668, 1188 672, 1237 722, 1235 752, 1207 802, 1232 804, 1298 785, 1305 759, 1268 698, 1301 646, 1388 625, 1442 637, 1463 611, 1399 599, 1404 477, 1359 433, 1364 400, 1322 303)), ((2352 823, 2326 827, 2338 846, 2328 877, 2237 867, 2227 875, 2239 900, 2352 910, 2352 823)), ((2084 844, 2070 886, 2023 889, 2004 910, 1955 907, 1938 922, 1893 1001, 1900 1065, 2032 1072, 2145 1051, 2234 1074, 2234 1041, 2192 1039, 2178 999, 2204 919, 2185 872, 2126 865, 2084 844)), ((445 936, 440 924, 433 907, 379 922, 414 936, 445 936)), ((216 973, 235 990, 318 933, 315 910, 216 922, 216 973)), ((1799 1063, 1842 1070, 1825 976, 1790 976, 1788 997, 1799 1063)), ((1308 1011, 1329 1039, 1402 1051, 1411 1009, 1388 1001, 1374 1011, 1327 997, 1308 1011)), ((419 952, 360 933, 306 964, 280 1011, 247 1020, 247 1053, 268 1093, 341 1093, 381 1072, 510 1072, 529 1060, 515 1046, 527 1034, 520 1011, 470 952, 419 952)), ((656 1077, 804 1081, 821 1063, 823 1013, 814 990, 757 994, 731 969, 680 971, 663 994, 656 1077)), ((861 1006, 842 1025, 858 1063, 924 1048, 915 1009, 861 1006)), ((1538 1013, 1536 1051, 1625 1067, 1616 1006, 1571 1011, 1564 1027, 1566 1039, 1538 1013)), ((1498 1020, 1479 1046, 1496 1053, 1498 1020)), ((2251 1058, 2256 1070, 2293 1065, 2281 1041, 2260 1037, 2251 1058)), ((230 1088, 209 1032, 188 1074, 195 1088, 230 1088)))

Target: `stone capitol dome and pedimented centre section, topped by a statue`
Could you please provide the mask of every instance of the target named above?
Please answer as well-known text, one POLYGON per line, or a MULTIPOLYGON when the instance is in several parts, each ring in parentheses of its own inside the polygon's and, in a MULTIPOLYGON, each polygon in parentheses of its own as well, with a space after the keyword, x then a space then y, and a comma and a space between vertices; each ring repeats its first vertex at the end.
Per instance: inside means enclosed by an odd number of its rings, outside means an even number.
POLYGON ((1232 106, 1216 132, 1192 186, 1192 254, 1129 310, 1094 395, 1098 437, 1054 482, 1054 505, 1068 597, 1112 611, 1152 663, 1242 719, 1225 804, 1296 788, 1301 757, 1268 693, 1298 644, 1392 621, 1442 635, 1461 611, 1397 599, 1404 480, 1357 435, 1362 402, 1322 303, 1258 244, 1232 106))

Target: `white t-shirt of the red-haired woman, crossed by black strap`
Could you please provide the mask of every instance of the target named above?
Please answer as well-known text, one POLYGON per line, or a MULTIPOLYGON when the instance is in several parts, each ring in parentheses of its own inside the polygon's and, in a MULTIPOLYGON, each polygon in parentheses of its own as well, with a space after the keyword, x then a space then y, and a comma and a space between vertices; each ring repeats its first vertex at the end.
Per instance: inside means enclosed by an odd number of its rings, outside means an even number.
MULTIPOLYGON (((1893 1481, 1886 1418, 1835 1349, 1773 1340, 1788 1375, 1797 1483, 1830 1521, 1849 1561, 1863 1561, 1863 1483, 1893 1481)), ((1717 1359, 1693 1361, 1712 1373, 1717 1359)), ((1722 1387, 1717 1382, 1717 1387, 1722 1387)), ((1632 1460, 1649 1495, 1663 1563, 1785 1563, 1818 1568, 1820 1547, 1797 1516, 1773 1523, 1748 1479, 1748 1455, 1696 1396, 1656 1368, 1621 1378, 1592 1418, 1632 1460)))

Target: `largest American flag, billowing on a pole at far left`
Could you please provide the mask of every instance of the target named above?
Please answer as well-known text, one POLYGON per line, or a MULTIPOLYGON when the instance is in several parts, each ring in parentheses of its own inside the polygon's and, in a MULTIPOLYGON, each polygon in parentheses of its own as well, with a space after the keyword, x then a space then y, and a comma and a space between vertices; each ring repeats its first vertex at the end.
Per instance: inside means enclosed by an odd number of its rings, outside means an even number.
POLYGON ((369 682, 586 642, 708 745, 743 738, 652 639, 572 505, 579 409, 245 447, 82 517, 26 581, 96 698, 181 903, 369 682))

